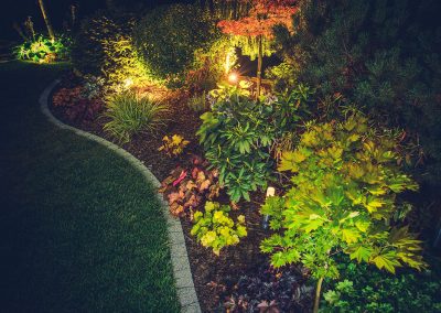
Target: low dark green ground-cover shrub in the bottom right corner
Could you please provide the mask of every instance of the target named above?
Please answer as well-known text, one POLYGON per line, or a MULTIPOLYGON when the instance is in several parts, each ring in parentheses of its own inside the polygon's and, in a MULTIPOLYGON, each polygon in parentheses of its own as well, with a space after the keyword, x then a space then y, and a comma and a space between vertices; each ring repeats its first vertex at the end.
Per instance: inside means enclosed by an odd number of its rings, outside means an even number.
POLYGON ((397 276, 347 259, 338 269, 340 279, 325 288, 321 312, 441 312, 441 272, 437 260, 430 270, 402 271, 397 276))

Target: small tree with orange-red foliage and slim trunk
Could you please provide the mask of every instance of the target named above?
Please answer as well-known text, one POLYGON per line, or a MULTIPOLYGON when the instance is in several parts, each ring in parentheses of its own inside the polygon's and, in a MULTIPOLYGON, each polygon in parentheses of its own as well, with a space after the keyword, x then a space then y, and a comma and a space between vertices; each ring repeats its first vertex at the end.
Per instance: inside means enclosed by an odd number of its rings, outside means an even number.
POLYGON ((238 20, 223 20, 218 22, 220 30, 235 36, 257 39, 257 97, 260 95, 262 67, 262 39, 271 40, 276 25, 284 25, 292 30, 292 15, 297 11, 295 0, 226 0, 250 4, 249 14, 238 20))

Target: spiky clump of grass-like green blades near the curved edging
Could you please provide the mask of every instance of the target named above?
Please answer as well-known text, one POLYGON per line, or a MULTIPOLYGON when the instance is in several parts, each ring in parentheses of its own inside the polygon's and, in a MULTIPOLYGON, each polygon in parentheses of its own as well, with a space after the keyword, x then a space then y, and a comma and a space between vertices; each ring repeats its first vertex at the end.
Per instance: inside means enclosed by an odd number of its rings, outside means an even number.
POLYGON ((116 94, 107 104, 105 116, 110 121, 104 129, 120 142, 129 142, 135 133, 153 131, 164 125, 163 114, 166 111, 164 105, 148 97, 138 98, 132 91, 116 94))

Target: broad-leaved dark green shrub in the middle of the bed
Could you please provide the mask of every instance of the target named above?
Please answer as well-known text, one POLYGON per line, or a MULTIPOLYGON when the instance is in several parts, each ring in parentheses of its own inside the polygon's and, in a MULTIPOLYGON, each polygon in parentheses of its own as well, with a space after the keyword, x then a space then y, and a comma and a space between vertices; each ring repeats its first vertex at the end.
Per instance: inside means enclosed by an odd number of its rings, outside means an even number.
POLYGON ((256 101, 238 87, 220 87, 211 93, 212 111, 201 116, 197 136, 230 199, 249 201, 249 192, 265 188, 271 179, 271 148, 295 126, 304 101, 297 90, 256 101))

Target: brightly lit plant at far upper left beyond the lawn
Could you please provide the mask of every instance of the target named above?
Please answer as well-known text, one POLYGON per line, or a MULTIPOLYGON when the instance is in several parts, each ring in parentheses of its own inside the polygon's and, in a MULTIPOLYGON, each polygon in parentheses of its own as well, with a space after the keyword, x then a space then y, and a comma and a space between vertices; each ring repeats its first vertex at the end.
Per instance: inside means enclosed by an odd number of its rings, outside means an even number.
POLYGON ((63 36, 51 40, 39 35, 17 46, 14 53, 19 60, 29 60, 36 63, 68 60, 69 41, 63 36))

